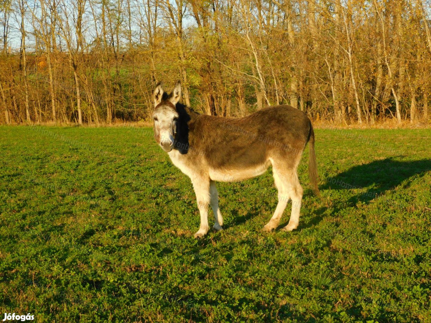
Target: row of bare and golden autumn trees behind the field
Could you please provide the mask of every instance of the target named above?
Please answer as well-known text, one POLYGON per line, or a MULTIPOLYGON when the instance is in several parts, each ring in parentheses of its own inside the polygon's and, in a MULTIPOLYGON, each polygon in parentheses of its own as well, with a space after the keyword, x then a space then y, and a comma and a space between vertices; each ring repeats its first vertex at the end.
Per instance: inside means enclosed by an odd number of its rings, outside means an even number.
POLYGON ((157 81, 200 112, 428 123, 425 0, 0 0, 0 122, 150 118, 157 81))

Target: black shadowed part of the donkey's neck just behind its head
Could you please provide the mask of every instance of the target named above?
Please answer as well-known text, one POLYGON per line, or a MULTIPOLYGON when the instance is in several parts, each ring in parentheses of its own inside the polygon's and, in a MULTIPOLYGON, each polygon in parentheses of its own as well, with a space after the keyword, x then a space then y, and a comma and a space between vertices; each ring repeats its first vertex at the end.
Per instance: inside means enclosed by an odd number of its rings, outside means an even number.
POLYGON ((191 124, 198 116, 199 113, 193 109, 177 103, 176 109, 178 112, 177 132, 175 135, 174 149, 178 150, 182 155, 187 154, 190 148, 189 144, 189 124, 191 124))

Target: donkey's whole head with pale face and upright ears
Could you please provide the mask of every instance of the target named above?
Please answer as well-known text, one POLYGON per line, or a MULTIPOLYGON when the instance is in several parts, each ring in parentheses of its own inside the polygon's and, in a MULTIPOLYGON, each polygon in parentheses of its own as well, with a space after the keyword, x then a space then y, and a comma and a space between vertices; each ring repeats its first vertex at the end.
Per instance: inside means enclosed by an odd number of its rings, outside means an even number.
POLYGON ((169 95, 163 90, 161 82, 154 89, 154 139, 166 152, 170 152, 174 147, 179 117, 175 105, 178 103, 180 97, 180 81, 175 84, 174 90, 169 95))

